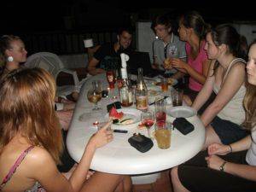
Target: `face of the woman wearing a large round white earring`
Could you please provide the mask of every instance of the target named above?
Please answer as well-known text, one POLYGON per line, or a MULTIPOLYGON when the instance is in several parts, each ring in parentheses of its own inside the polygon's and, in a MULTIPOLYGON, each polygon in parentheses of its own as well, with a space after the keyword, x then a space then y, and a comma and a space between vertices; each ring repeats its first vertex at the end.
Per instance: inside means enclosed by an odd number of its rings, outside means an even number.
POLYGON ((26 61, 26 49, 25 45, 23 44, 22 41, 20 40, 14 40, 10 44, 10 49, 9 49, 9 56, 14 57, 15 62, 25 62, 26 61))

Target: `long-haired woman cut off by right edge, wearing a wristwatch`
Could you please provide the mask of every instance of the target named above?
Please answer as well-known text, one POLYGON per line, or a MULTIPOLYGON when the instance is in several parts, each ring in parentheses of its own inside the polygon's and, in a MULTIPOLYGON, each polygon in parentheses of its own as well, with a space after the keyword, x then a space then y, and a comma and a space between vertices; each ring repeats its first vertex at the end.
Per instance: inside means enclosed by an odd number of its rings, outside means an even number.
POLYGON ((230 145, 213 143, 207 151, 172 169, 175 192, 256 189, 256 41, 248 53, 247 93, 243 103, 246 118, 242 126, 251 135, 230 145))

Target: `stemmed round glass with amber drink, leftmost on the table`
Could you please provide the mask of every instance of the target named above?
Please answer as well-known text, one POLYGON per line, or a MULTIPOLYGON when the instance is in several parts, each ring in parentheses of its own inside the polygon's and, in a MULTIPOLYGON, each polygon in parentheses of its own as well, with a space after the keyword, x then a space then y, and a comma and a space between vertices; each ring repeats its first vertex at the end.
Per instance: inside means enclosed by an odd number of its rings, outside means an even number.
POLYGON ((92 110, 99 110, 97 103, 102 99, 102 82, 99 80, 92 81, 92 87, 87 92, 87 98, 89 102, 93 102, 95 104, 92 110))

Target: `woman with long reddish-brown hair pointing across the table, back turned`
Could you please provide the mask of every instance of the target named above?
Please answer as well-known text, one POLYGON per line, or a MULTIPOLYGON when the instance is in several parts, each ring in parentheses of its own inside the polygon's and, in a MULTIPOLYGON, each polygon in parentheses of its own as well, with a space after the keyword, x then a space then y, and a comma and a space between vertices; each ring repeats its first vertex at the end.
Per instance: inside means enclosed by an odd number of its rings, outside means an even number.
POLYGON ((130 191, 130 177, 96 172, 86 180, 96 148, 113 139, 109 123, 90 138, 69 179, 57 170, 63 142, 54 99, 55 80, 44 69, 16 69, 1 81, 0 190, 130 191))

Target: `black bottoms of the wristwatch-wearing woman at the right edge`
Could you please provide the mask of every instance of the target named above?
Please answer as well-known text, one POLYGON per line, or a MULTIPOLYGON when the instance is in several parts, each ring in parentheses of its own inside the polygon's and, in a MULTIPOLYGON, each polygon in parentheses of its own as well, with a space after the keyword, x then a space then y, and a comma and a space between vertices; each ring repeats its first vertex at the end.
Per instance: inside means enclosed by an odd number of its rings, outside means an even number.
MULTIPOLYGON (((246 154, 247 151, 241 151, 220 157, 229 162, 247 165, 246 154)), ((193 192, 256 191, 256 182, 208 168, 206 156, 207 151, 203 151, 178 166, 179 180, 186 189, 193 192)))

